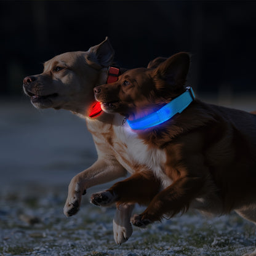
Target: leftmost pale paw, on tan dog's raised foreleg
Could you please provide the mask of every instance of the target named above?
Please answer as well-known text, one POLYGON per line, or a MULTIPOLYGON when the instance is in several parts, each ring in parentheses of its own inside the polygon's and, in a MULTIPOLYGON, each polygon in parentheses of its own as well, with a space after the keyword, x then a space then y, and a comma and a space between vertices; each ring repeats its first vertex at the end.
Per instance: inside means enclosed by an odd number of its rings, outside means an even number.
POLYGON ((78 182, 71 180, 70 186, 68 187, 68 198, 63 209, 64 214, 70 217, 79 211, 82 195, 86 194, 78 182))

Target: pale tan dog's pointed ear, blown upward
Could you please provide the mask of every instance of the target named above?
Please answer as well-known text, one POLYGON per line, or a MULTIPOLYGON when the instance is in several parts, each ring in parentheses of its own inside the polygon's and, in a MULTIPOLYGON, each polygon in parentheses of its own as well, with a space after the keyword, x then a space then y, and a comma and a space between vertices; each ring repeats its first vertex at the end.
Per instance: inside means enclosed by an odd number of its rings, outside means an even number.
POLYGON ((95 68, 108 67, 113 63, 113 59, 114 49, 107 36, 106 39, 97 46, 90 47, 86 54, 87 63, 95 68))

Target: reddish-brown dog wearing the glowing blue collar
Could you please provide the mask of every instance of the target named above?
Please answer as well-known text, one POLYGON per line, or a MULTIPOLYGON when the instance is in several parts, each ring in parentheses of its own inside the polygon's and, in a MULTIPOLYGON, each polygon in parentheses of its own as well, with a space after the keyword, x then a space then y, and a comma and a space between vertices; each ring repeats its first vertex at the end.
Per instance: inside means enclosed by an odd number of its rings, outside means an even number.
MULTIPOLYGON (((148 155, 158 162, 158 168, 151 168, 155 177, 166 183, 167 176, 169 184, 132 222, 146 226, 191 206, 210 214, 236 210, 256 223, 256 116, 194 99, 184 86, 189 66, 190 57, 182 52, 157 68, 129 70, 117 82, 94 89, 104 111, 120 113, 133 125, 190 94, 191 102, 181 113, 156 126, 135 130, 145 142, 144 151, 155 150, 154 156, 148 155)), ((146 157, 142 157, 146 165, 146 157)), ((153 193, 144 180, 145 174, 138 172, 94 194, 91 201, 105 206, 143 203, 153 193)))

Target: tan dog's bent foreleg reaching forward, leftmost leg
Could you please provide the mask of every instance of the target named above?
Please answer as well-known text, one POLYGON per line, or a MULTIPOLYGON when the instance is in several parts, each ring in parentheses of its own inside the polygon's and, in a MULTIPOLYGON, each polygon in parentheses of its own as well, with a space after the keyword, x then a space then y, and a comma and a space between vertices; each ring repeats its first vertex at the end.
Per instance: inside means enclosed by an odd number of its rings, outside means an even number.
POLYGON ((68 198, 63 209, 70 217, 79 210, 82 195, 87 188, 124 177, 127 171, 118 161, 98 159, 91 167, 74 176, 68 186, 68 198))

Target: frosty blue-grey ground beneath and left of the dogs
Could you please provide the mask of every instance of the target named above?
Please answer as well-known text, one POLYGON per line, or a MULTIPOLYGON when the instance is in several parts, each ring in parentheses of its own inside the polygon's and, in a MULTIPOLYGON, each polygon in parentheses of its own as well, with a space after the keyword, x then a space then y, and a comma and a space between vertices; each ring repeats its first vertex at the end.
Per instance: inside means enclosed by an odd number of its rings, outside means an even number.
POLYGON ((145 230, 134 227, 118 246, 114 209, 89 203, 90 194, 108 185, 88 190, 78 214, 65 217, 70 179, 96 159, 92 139, 73 114, 38 111, 24 100, 0 104, 0 255, 238 256, 254 250, 252 223, 235 213, 210 218, 191 210, 145 230))

